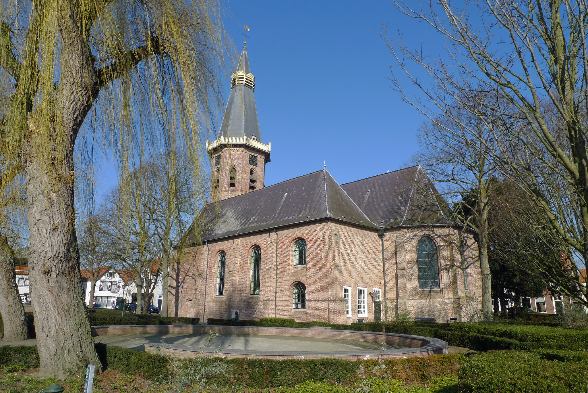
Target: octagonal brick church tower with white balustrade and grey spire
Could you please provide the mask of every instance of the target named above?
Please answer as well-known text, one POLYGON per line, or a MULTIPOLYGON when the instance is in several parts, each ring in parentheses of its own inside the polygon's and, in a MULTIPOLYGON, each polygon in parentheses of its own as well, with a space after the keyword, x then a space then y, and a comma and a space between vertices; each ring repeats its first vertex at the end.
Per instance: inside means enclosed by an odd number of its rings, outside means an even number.
POLYGON ((229 101, 215 141, 206 141, 211 156, 211 201, 262 189, 271 143, 262 142, 255 107, 255 77, 249 71, 246 42, 231 75, 229 101))

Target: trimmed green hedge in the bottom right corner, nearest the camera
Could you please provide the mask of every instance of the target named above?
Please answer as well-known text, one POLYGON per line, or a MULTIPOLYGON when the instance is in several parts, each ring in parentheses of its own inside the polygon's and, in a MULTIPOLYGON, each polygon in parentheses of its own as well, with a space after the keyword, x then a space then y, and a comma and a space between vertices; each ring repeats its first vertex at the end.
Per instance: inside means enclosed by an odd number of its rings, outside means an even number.
POLYGON ((569 354, 570 361, 565 362, 542 358, 542 352, 491 351, 469 356, 457 372, 460 392, 586 392, 588 372, 582 356, 569 354), (583 360, 572 360, 576 356, 583 360))

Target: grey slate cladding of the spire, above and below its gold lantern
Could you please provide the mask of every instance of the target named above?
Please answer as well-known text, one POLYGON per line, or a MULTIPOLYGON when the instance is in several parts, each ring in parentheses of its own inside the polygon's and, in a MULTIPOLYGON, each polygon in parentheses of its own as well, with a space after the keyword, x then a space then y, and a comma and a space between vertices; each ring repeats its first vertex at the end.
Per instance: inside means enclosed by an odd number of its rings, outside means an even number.
MULTIPOLYGON (((249 58, 247 47, 243 45, 243 51, 239 57, 237 71, 249 71, 249 58)), ((257 107, 253 89, 246 85, 235 85, 230 90, 229 100, 226 103, 225 116, 217 138, 243 137, 252 138, 255 135, 261 141, 257 107)))

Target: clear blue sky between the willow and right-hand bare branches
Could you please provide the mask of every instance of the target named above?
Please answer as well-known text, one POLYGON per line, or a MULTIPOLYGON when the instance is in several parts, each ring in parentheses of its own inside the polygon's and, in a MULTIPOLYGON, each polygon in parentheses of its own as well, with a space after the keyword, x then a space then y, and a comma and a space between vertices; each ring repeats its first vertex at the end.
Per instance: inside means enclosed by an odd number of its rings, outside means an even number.
POLYGON ((266 186, 320 170, 323 161, 342 184, 400 169, 416 153, 425 118, 390 87, 394 59, 379 32, 384 23, 415 48, 423 40, 433 47, 423 24, 386 0, 225 6, 225 29, 239 51, 243 25, 250 28, 259 124, 263 142, 272 143, 266 186))

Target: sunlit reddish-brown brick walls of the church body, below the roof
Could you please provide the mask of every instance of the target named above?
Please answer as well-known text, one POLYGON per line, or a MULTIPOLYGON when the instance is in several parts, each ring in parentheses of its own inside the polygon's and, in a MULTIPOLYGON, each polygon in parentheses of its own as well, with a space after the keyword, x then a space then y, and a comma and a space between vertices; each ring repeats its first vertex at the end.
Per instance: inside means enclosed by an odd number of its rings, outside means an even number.
POLYGON ((382 296, 386 290, 388 319, 399 312, 408 314, 410 319, 462 321, 481 308, 482 278, 477 244, 469 236, 464 253, 468 282, 465 289, 456 239, 456 231, 446 227, 386 230, 386 288, 382 244, 373 229, 322 220, 278 229, 276 234, 269 230, 209 242, 184 250, 179 268, 172 270, 169 309, 175 315, 197 317, 203 322, 206 318, 229 319, 233 310, 239 311, 240 319, 277 316, 306 322, 373 321, 369 292, 376 288, 382 296), (422 290, 418 286, 416 245, 422 236, 430 236, 437 245, 437 290, 422 290), (307 245, 307 263, 303 266, 293 265, 293 244, 298 239, 305 239, 307 245), (260 293, 249 295, 250 254, 256 245, 261 249, 260 293), (225 290, 223 296, 216 296, 221 250, 226 253, 225 290), (305 310, 292 308, 292 289, 297 282, 306 286, 305 310), (349 317, 343 299, 344 286, 350 287, 349 317), (358 288, 366 288, 366 315, 358 315, 358 288))

